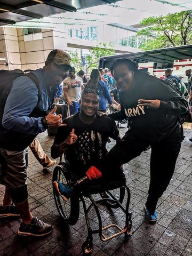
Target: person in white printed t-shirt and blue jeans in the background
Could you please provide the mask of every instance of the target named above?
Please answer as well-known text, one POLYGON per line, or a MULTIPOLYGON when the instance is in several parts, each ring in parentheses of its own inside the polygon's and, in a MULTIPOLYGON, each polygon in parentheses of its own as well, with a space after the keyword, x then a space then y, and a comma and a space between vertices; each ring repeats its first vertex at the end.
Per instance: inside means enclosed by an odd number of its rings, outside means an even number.
POLYGON ((79 111, 79 100, 84 89, 83 79, 75 75, 75 68, 69 71, 69 76, 63 81, 63 91, 69 105, 70 115, 79 111))

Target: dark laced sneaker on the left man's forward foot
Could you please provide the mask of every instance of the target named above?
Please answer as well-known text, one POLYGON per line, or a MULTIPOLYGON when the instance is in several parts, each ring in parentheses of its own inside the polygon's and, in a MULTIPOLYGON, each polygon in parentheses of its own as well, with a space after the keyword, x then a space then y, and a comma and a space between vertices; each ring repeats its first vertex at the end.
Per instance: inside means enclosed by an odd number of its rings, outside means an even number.
POLYGON ((52 225, 44 223, 42 220, 33 217, 29 224, 21 222, 18 229, 20 236, 45 236, 53 231, 52 225))

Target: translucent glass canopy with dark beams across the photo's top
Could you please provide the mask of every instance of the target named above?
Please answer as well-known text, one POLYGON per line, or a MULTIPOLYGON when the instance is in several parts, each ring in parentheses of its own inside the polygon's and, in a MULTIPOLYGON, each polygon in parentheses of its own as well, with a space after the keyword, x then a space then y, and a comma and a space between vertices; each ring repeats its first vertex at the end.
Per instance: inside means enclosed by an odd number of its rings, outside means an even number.
POLYGON ((0 26, 62 29, 67 26, 84 28, 110 24, 137 32, 131 27, 142 27, 139 22, 143 18, 191 10, 191 0, 173 2, 175 1, 0 0, 0 26), (101 6, 98 8, 98 5, 101 6), (71 11, 76 12, 71 14, 71 11))

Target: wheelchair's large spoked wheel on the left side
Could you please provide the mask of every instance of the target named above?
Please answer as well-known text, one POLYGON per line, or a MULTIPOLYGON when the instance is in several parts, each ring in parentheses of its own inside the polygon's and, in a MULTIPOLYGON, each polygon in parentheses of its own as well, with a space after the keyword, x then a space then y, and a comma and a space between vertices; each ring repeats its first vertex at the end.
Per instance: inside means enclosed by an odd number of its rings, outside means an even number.
MULTIPOLYGON (((60 162, 53 171, 53 180, 60 181, 65 185, 71 184, 70 173, 66 169, 66 163, 60 162)), ((60 217, 69 225, 75 225, 79 217, 79 198, 72 195, 68 202, 63 201, 62 197, 55 191, 53 186, 54 201, 60 217)))

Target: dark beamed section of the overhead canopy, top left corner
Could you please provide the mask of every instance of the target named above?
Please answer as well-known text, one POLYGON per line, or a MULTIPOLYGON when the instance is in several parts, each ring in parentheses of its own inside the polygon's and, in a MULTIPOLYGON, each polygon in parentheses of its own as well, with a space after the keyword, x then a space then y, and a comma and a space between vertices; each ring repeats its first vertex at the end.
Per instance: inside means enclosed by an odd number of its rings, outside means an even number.
POLYGON ((16 22, 63 13, 75 12, 101 4, 111 4, 111 0, 0 0, 0 26, 14 25, 16 22))

